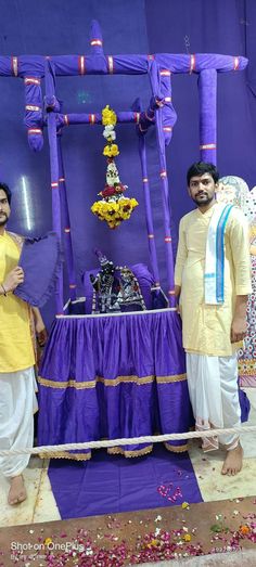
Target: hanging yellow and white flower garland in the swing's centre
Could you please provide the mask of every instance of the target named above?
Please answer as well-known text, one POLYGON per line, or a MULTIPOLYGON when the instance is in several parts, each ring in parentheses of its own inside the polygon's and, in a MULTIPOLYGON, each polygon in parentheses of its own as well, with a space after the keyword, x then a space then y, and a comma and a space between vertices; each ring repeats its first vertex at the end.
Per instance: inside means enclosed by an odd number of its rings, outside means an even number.
POLYGON ((103 137, 106 145, 103 155, 107 158, 106 182, 104 190, 99 193, 101 201, 95 201, 91 207, 93 215, 100 220, 105 220, 110 229, 116 229, 123 220, 130 218, 132 210, 138 206, 136 198, 124 196, 127 185, 123 185, 115 164, 115 157, 119 155, 118 145, 115 142, 116 114, 108 104, 102 111, 102 124, 105 127, 103 137))

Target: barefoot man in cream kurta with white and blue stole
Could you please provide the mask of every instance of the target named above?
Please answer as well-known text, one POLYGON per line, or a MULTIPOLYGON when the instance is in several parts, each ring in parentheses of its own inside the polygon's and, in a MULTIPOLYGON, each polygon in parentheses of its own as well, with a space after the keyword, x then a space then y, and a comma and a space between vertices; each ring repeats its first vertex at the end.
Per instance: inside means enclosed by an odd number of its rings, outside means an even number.
MULTIPOLYGON (((213 164, 200 162, 188 171, 189 194, 197 208, 180 221, 175 269, 197 429, 234 427, 241 422, 236 350, 246 334, 252 291, 247 221, 238 208, 217 204, 218 179, 213 164)), ((234 475, 243 456, 238 434, 221 436, 219 441, 227 449, 222 474, 234 475)), ((216 436, 204 438, 205 451, 217 448, 216 436)))

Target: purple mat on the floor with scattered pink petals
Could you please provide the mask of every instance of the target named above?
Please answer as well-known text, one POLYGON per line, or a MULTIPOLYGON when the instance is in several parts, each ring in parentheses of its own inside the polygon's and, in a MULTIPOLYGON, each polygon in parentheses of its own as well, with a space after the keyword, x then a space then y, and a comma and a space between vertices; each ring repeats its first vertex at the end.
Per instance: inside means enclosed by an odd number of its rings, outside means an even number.
POLYGON ((159 444, 138 459, 99 450, 86 463, 51 460, 48 474, 62 519, 203 500, 188 453, 169 453, 159 444))

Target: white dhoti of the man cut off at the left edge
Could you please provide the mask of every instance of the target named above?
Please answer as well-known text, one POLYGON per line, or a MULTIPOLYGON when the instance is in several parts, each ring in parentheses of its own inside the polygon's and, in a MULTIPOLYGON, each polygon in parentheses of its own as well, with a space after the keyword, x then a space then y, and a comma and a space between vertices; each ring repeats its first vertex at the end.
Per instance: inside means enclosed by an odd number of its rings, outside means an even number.
MULTIPOLYGON (((0 373, 0 449, 25 449, 34 442, 34 413, 37 411, 34 368, 0 373)), ((0 456, 5 477, 21 475, 30 455, 0 456)))

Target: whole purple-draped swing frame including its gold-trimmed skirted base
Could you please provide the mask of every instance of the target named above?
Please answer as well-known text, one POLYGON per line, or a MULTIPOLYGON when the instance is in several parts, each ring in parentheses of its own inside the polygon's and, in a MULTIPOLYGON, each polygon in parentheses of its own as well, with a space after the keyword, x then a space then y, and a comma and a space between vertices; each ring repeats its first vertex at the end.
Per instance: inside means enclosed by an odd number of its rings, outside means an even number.
MULTIPOLYGON (((216 164, 218 73, 242 70, 247 60, 220 54, 105 55, 98 22, 90 31, 90 55, 0 56, 0 76, 24 80, 25 125, 34 151, 50 146, 52 228, 64 244, 69 298, 75 302, 76 281, 67 205, 61 133, 71 125, 99 125, 101 114, 63 114, 56 96, 57 76, 148 75, 152 89, 149 107, 137 101, 132 111, 117 113, 117 123, 133 123, 138 136, 141 185, 148 229, 153 285, 161 287, 154 241, 153 212, 146 163, 146 131, 156 130, 159 191, 162 192, 168 307, 129 313, 68 315, 64 311, 63 272, 55 285, 56 317, 44 350, 39 378, 40 444, 82 442, 143 435, 183 433, 193 425, 180 319, 175 307, 174 255, 170 232, 166 146, 177 119, 171 101, 171 77, 197 74, 200 100, 200 158, 216 164), (46 96, 41 79, 46 81, 46 96), (64 227, 64 233, 62 233, 64 227)), ((95 222, 98 222, 95 220, 95 222)), ((242 398, 241 398, 242 399, 242 398)), ((243 403, 242 417, 243 415, 243 403)), ((170 451, 185 451, 185 441, 167 442, 170 451)), ((152 444, 108 449, 137 456, 152 444)), ((55 454, 54 454, 55 456, 55 454)), ((89 450, 59 456, 86 460, 89 450)))

